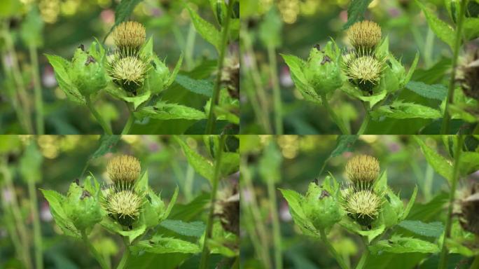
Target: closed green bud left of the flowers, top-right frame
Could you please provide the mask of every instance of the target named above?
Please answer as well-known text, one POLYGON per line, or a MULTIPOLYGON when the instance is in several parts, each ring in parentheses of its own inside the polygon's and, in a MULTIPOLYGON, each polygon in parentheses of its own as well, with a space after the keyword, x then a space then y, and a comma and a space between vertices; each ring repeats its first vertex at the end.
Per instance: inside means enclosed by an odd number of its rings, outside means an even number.
POLYGON ((305 78, 319 95, 333 92, 342 85, 338 48, 330 41, 324 51, 314 47, 304 69, 305 78))

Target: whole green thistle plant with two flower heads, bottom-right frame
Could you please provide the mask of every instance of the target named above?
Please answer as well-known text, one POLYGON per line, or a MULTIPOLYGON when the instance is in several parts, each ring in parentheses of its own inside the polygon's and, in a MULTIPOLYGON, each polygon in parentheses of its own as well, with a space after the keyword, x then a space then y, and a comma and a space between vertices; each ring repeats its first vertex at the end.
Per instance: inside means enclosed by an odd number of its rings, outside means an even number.
POLYGON ((365 268, 371 252, 439 251, 438 246, 431 242, 403 237, 398 233, 390 235, 398 223, 408 216, 417 188, 408 205, 404 206, 401 198, 387 185, 386 170, 381 172, 380 162, 373 156, 357 155, 350 158, 345 165, 345 174, 345 184, 339 184, 330 174, 321 184, 312 182, 306 195, 280 190, 289 204, 296 225, 305 235, 321 239, 340 268, 350 267, 328 240, 328 233, 336 224, 363 239, 364 253, 356 266, 359 269, 365 268))

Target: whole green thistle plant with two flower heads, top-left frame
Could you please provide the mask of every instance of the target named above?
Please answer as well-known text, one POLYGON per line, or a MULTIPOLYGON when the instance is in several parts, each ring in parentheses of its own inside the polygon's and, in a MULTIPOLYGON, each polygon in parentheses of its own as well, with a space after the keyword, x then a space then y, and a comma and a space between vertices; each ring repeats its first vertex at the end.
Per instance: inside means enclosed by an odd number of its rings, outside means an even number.
POLYGON ((179 104, 168 104, 161 93, 172 85, 183 56, 169 71, 165 62, 153 53, 153 39, 146 39, 141 23, 120 22, 112 31, 114 46, 106 48, 98 41, 88 50, 81 45, 71 62, 60 56, 47 55, 55 70, 57 82, 67 98, 88 106, 105 134, 113 134, 111 123, 97 111, 95 100, 106 92, 125 103, 129 118, 123 123, 123 135, 130 132, 135 120, 206 118, 204 112, 179 104))

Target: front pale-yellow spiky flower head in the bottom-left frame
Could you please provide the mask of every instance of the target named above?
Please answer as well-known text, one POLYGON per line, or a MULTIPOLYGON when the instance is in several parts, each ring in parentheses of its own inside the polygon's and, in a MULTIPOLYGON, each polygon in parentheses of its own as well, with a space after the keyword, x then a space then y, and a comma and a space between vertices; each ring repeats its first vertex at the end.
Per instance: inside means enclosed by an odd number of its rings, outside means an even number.
POLYGON ((137 220, 143 205, 140 196, 130 190, 118 191, 105 200, 106 212, 123 226, 130 226, 137 220))

